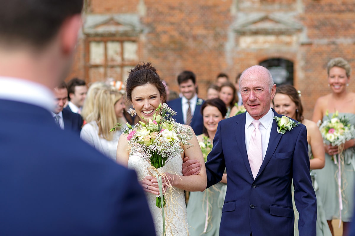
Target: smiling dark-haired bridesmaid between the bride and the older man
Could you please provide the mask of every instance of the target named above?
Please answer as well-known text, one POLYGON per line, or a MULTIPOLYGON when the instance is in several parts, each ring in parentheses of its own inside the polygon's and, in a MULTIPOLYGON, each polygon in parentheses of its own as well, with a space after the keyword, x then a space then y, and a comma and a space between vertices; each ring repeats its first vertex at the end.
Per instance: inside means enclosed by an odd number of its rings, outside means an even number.
MULTIPOLYGON (((197 136, 197 139, 205 159, 212 149, 212 140, 217 131, 218 122, 224 119, 226 113, 225 103, 219 98, 206 100, 202 104, 203 134, 197 136)), ((211 188, 203 192, 190 192, 187 221, 191 226, 191 236, 219 235, 226 183, 226 174, 224 174, 222 181, 211 188)))

